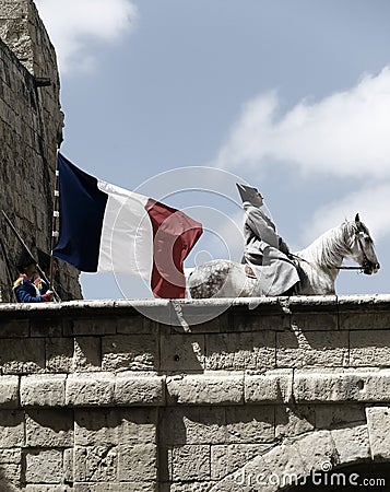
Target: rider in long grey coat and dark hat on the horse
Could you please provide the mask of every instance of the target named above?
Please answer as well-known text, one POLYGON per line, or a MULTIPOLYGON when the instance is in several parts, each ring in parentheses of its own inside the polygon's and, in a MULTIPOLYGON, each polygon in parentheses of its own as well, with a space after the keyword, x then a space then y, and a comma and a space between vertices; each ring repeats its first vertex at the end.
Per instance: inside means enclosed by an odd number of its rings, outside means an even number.
POLYGON ((297 268, 286 243, 261 209, 262 196, 256 188, 237 184, 246 212, 243 262, 250 266, 259 280, 260 295, 292 295, 299 282, 297 268))

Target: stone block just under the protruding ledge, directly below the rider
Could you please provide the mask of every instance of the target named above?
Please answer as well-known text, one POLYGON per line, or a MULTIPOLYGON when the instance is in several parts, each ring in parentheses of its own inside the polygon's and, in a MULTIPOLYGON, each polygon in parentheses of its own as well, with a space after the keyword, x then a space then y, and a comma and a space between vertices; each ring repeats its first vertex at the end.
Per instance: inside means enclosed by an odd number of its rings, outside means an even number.
POLYGON ((268 405, 226 408, 226 444, 262 444, 274 440, 274 408, 268 405))

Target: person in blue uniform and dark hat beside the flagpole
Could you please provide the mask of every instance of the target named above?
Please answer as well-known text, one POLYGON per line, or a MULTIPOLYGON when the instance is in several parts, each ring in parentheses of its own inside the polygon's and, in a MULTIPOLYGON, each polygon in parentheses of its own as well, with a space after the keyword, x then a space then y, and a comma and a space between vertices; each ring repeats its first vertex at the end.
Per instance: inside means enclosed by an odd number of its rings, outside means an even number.
POLYGON ((52 301, 52 292, 50 290, 46 290, 43 293, 34 284, 37 274, 36 261, 27 251, 24 250, 20 255, 16 268, 20 276, 13 284, 13 291, 20 303, 44 303, 52 301))

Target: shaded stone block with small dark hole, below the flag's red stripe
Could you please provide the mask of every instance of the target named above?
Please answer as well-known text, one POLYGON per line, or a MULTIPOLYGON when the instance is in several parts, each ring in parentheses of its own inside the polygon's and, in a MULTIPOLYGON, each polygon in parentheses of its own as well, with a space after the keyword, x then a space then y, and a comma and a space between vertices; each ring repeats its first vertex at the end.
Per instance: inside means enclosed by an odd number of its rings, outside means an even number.
POLYGON ((161 371, 163 372, 203 371, 204 353, 204 335, 161 336, 161 371))

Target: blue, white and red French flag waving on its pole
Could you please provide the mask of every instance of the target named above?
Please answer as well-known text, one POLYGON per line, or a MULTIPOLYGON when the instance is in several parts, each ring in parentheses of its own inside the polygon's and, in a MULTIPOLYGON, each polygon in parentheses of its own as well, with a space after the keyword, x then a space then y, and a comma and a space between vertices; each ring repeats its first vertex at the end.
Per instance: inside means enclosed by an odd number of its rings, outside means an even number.
POLYGON ((58 153, 59 238, 54 256, 85 272, 141 276, 156 297, 184 298, 184 261, 202 224, 95 178, 58 153))

